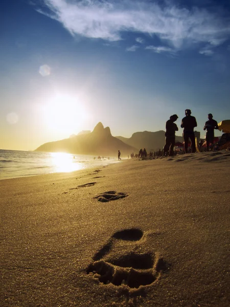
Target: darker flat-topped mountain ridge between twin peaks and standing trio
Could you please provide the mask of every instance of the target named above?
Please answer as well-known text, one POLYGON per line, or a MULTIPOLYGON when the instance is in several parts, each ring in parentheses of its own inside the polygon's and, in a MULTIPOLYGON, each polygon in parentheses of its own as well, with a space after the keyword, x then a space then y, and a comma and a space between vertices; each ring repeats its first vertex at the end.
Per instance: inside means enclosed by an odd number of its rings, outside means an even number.
MULTIPOLYGON (((146 148, 147 152, 162 149, 165 145, 165 131, 156 132, 143 131, 135 132, 131 138, 116 137, 122 142, 135 148, 146 148)), ((176 142, 183 142, 182 137, 176 136, 176 142)), ((138 149, 138 151, 139 151, 138 149)))

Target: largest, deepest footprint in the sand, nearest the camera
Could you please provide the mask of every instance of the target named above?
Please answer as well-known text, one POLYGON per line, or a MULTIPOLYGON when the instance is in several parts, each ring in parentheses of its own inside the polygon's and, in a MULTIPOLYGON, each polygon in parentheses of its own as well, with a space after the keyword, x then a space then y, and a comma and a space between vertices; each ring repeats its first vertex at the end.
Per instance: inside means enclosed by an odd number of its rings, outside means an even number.
POLYGON ((147 245, 146 252, 136 252, 138 243, 143 242, 142 237, 143 231, 135 228, 114 233, 94 255, 94 262, 88 266, 86 273, 103 284, 112 283, 129 291, 151 285, 167 266, 157 253, 148 252, 147 245))

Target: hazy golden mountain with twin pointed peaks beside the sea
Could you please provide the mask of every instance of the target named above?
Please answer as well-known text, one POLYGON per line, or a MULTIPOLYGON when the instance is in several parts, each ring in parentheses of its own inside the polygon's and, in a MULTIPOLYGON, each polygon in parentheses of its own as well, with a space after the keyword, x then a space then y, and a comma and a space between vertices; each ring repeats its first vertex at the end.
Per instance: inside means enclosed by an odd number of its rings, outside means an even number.
MULTIPOLYGON (((118 150, 124 157, 130 152, 137 152, 133 146, 125 144, 111 135, 110 128, 104 128, 99 122, 91 133, 84 133, 71 138, 49 142, 39 146, 35 151, 68 152, 79 155, 117 156, 118 150)), ((121 156, 121 157, 122 157, 121 156)))

